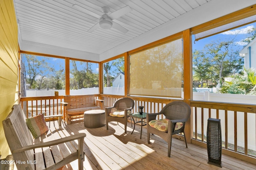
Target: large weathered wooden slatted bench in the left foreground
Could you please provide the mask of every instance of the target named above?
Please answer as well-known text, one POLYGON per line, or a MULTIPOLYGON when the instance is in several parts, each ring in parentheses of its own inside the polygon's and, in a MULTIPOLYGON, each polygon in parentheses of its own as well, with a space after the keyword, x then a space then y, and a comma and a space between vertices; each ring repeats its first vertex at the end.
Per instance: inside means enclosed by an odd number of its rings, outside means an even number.
POLYGON ((76 159, 78 169, 83 169, 85 133, 60 138, 56 130, 49 130, 46 135, 33 140, 25 119, 21 106, 14 105, 12 112, 2 121, 18 170, 56 170, 76 159))

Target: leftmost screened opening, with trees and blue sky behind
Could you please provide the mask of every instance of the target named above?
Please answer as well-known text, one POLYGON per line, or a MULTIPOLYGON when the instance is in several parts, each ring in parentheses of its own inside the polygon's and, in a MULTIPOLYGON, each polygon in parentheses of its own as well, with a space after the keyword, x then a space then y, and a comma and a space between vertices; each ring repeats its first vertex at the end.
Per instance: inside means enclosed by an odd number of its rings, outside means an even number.
POLYGON ((65 95, 65 60, 31 54, 20 54, 22 97, 65 95))

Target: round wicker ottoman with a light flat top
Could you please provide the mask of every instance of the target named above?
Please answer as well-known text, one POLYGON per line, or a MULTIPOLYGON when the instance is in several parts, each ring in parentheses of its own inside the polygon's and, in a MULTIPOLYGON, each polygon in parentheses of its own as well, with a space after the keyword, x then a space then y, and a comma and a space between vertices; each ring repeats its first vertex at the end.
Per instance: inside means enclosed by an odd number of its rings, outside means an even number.
POLYGON ((106 125, 105 110, 88 110, 84 112, 84 127, 97 128, 106 125))

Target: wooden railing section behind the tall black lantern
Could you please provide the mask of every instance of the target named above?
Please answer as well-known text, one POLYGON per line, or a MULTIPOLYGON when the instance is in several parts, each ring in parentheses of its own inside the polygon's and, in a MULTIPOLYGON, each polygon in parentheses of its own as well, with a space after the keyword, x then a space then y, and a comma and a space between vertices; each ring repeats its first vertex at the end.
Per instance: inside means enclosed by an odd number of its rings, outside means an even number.
POLYGON ((192 143, 206 147, 208 118, 221 120, 222 152, 249 162, 256 161, 256 105, 191 101, 192 143), (242 158, 241 158, 242 159, 242 158))

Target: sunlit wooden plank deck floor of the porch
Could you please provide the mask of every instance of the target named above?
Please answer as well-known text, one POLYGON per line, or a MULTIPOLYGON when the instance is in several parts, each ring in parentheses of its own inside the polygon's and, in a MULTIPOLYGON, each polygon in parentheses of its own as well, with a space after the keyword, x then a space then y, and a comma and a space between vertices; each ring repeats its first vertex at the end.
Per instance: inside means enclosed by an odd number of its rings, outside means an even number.
MULTIPOLYGON (((58 122, 52 122, 58 126, 58 122)), ((52 125, 51 123, 51 125, 52 125)), ((72 124, 62 122, 62 128, 69 134, 86 133, 84 139, 85 170, 252 170, 255 164, 250 164, 222 154, 222 168, 208 164, 207 150, 197 145, 173 139, 171 157, 167 156, 167 143, 160 137, 151 135, 151 144, 147 143, 146 127, 143 127, 140 139, 140 125, 133 127, 128 123, 127 133, 124 125, 116 122, 101 128, 89 129, 84 127, 83 119, 75 119, 72 124)), ((67 133, 67 134, 68 134, 67 133)), ((63 169, 77 169, 77 160, 66 165, 63 169)))

